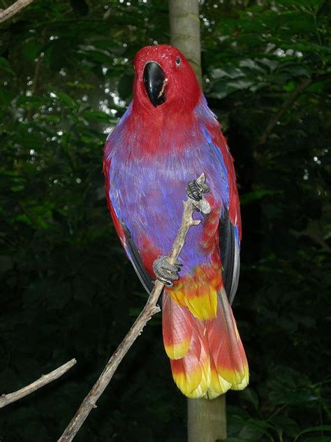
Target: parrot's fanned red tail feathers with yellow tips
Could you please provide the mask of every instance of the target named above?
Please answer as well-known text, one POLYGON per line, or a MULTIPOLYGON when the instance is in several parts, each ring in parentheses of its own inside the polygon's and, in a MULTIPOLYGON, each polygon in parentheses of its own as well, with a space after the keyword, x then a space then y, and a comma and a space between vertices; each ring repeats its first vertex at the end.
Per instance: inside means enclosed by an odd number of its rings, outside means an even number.
POLYGON ((248 384, 246 355, 223 288, 216 312, 216 318, 200 320, 163 294, 165 348, 175 383, 187 397, 213 399, 248 384))

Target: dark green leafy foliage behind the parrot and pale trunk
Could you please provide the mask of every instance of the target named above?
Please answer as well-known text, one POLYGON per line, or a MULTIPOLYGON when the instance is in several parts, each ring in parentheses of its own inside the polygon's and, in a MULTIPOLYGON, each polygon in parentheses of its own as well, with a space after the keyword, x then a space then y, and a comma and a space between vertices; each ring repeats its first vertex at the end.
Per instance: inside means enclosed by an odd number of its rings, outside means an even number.
MULTIPOLYGON (((234 311, 251 383, 227 394, 228 441, 329 442, 330 3, 200 3, 205 94, 242 201, 234 311)), ((1 442, 57 440, 145 304, 106 207, 103 143, 135 52, 169 39, 156 0, 34 1, 1 24, 0 393, 78 359, 0 410, 1 442)), ((75 440, 185 440, 160 325, 75 440)))

